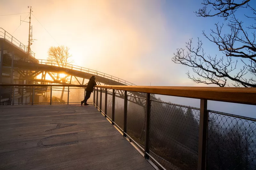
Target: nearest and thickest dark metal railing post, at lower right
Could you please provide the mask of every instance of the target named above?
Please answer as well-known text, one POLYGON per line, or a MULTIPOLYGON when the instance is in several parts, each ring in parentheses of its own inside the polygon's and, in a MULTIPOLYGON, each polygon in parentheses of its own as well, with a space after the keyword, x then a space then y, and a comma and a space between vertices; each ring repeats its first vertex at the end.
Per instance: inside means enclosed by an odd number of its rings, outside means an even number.
POLYGON ((201 99, 200 100, 199 140, 198 140, 198 162, 197 162, 198 170, 205 170, 206 168, 207 129, 208 129, 207 100, 201 99))

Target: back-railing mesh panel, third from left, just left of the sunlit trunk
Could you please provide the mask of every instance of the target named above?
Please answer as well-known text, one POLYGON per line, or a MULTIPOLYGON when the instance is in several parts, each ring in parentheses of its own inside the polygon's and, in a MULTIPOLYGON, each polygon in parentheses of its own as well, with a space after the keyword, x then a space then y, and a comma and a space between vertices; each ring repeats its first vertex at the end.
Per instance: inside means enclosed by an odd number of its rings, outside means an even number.
POLYGON ((51 87, 32 87, 30 88, 30 102, 34 105, 49 105, 51 99, 51 87), (32 94, 33 93, 33 94, 32 94))

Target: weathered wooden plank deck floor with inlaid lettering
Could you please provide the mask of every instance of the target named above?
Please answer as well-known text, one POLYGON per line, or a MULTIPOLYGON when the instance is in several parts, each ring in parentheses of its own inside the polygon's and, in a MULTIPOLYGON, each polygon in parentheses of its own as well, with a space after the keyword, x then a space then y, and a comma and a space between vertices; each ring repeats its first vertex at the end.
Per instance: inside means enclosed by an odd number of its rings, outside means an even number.
POLYGON ((154 169, 93 107, 0 106, 0 169, 154 169))

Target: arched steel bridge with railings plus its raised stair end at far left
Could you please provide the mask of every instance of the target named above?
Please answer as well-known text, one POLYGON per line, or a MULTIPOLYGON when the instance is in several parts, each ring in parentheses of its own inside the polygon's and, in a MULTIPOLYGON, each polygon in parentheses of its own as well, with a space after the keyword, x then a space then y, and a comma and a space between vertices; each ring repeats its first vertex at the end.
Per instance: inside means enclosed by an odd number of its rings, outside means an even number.
MULTIPOLYGON (((5 77, 10 77, 12 80, 26 80, 27 84, 41 83, 68 85, 78 83, 79 85, 86 85, 86 81, 84 80, 89 79, 94 75, 98 85, 134 85, 133 83, 127 82, 121 78, 96 70, 73 64, 54 63, 50 60, 36 59, 35 53, 33 52, 31 52, 28 57, 28 51, 26 51, 25 48, 22 48, 24 45, 2 28, 0 28, 0 37, 0 41, 4 44, 1 50, 7 51, 7 54, 3 57, 4 70, 1 68, 1 74, 4 73, 5 77), (19 56, 19 58, 14 57, 13 52, 16 56, 19 56), (8 53, 12 53, 12 56, 8 55, 8 53), (63 65, 65 67, 60 67, 63 65), (13 75, 13 70, 15 70, 19 75, 13 75), (59 76, 60 74, 65 74, 65 76, 59 76), (40 78, 38 78, 39 75, 41 75, 40 78), (47 75, 49 75, 52 80, 46 78, 49 77, 47 75), (67 82, 67 80, 69 80, 69 82, 67 82)), ((143 99, 146 98, 145 93, 128 92, 128 95, 130 96, 129 101, 141 106, 145 104, 143 99)), ((124 98, 124 94, 121 91, 117 91, 116 97, 124 98)), ((152 99, 156 99, 154 95, 152 95, 152 99)))

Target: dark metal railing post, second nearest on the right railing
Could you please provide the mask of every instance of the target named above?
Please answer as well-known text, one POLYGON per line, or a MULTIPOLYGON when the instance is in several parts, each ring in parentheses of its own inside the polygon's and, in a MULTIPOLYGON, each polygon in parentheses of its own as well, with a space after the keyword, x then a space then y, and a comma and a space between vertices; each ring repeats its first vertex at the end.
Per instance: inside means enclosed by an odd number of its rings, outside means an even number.
POLYGON ((150 127, 150 93, 147 93, 146 98, 146 125, 145 125, 145 150, 144 158, 148 159, 149 156, 149 127, 150 127))

